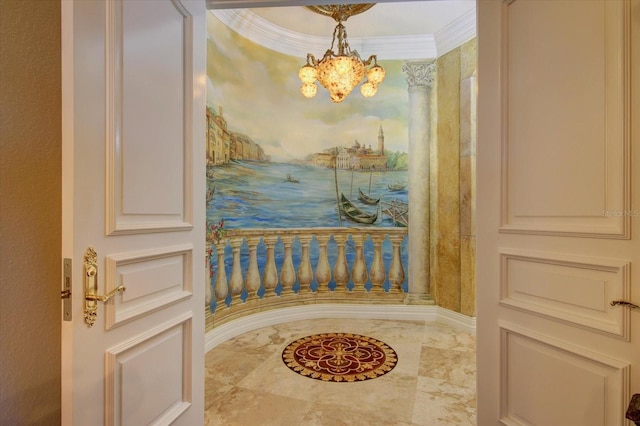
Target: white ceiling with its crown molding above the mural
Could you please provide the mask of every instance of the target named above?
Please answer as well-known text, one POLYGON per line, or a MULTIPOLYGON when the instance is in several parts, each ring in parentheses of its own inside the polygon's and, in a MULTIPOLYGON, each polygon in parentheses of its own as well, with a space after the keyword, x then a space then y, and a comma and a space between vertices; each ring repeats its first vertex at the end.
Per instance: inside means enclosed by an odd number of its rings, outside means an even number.
MULTIPOLYGON (((297 2, 208 0, 207 6, 231 29, 265 47, 300 57, 307 52, 321 54, 331 45, 336 22, 305 7, 289 6, 292 3, 297 2), (255 7, 262 4, 266 7, 255 7), (225 9, 230 5, 235 8, 225 9)), ((306 1, 311 3, 318 4, 306 1)), ((351 48, 376 52, 378 59, 437 58, 475 37, 475 4, 475 0, 378 3, 344 25, 351 48)))

